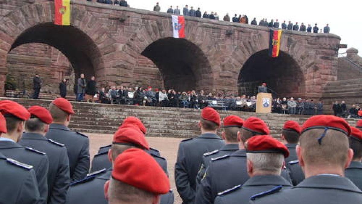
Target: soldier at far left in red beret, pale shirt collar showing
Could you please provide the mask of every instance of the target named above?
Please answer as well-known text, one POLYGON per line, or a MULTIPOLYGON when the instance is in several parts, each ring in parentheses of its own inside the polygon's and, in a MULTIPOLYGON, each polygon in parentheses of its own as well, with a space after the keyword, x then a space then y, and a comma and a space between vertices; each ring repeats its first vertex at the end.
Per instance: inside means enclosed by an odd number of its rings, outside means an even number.
POLYGON ((48 157, 44 152, 17 144, 24 132, 24 122, 29 119, 30 113, 20 104, 8 100, 0 101, 0 113, 5 117, 7 129, 7 133, 0 137, 0 152, 9 159, 33 166, 41 199, 39 203, 47 203, 48 157))

